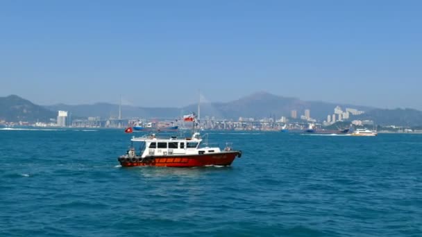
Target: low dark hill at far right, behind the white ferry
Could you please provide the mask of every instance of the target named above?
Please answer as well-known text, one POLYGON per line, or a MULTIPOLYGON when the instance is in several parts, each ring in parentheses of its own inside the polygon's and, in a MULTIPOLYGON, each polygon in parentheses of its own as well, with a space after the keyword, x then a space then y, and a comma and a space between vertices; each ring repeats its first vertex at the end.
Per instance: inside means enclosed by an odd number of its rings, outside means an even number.
POLYGON ((372 109, 357 117, 372 120, 377 125, 419 126, 422 125, 422 111, 416 109, 372 109))

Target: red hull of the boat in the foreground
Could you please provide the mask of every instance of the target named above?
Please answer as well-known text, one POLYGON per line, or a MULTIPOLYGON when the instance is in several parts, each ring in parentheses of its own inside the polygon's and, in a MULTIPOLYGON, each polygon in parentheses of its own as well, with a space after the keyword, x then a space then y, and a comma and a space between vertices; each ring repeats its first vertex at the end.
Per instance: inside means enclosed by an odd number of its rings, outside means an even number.
POLYGON ((202 155, 167 155, 145 158, 119 157, 123 167, 133 166, 163 166, 163 167, 196 167, 196 166, 230 166, 236 157, 241 157, 241 151, 219 152, 202 155))

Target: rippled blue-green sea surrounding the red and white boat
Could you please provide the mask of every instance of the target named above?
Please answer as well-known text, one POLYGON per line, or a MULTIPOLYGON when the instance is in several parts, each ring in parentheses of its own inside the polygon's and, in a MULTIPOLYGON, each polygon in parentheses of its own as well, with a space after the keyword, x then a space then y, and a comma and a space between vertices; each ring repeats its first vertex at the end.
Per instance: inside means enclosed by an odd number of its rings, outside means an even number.
POLYGON ((203 133, 242 157, 122 168, 141 133, 0 130, 0 236, 422 236, 422 134, 203 133))

